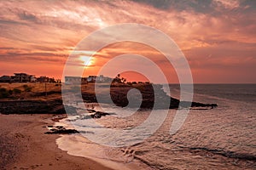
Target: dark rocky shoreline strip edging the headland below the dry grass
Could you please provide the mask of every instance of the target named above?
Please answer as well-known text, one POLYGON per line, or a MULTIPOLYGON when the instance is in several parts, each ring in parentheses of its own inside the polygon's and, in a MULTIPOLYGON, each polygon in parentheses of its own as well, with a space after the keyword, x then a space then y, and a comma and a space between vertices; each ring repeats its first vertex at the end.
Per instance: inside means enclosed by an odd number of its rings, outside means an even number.
MULTIPOLYGON (((103 87, 104 88, 104 87, 103 87)), ((129 100, 127 99, 128 92, 132 89, 136 88, 140 91, 140 95, 143 97, 143 101, 141 102, 141 109, 166 109, 166 105, 162 103, 158 103, 158 105, 154 104, 154 100, 157 99, 159 101, 170 100, 169 109, 183 109, 183 108, 201 108, 201 109, 212 109, 217 104, 203 104, 199 102, 187 102, 187 101, 179 101, 178 99, 172 98, 168 96, 161 88, 160 85, 153 84, 142 84, 137 86, 129 86, 122 85, 120 86, 112 86, 110 89, 110 96, 115 105, 120 107, 125 107, 129 104, 129 100), (155 87, 153 87, 155 86, 155 87), (156 92, 154 93, 154 90, 156 92)), ((104 91, 104 90, 103 90, 104 91)), ((67 91, 68 93, 68 91, 67 91)), ((109 103, 109 94, 104 91, 101 95, 102 103, 109 103)), ((96 94, 94 93, 94 89, 90 92, 83 92, 82 97, 84 103, 97 103, 96 94)), ((140 102, 139 95, 133 95, 132 101, 137 104, 140 102)), ((163 102, 164 103, 164 102, 163 102)), ((136 105, 129 105, 130 107, 136 105)), ((2 100, 0 101, 0 113, 2 114, 65 114, 73 113, 76 114, 76 108, 72 105, 63 105, 62 99, 16 99, 16 100, 2 100), (66 110, 68 111, 66 111, 66 110)), ((98 115, 95 115, 97 118, 98 115)), ((93 117, 93 118, 95 118, 93 117)))

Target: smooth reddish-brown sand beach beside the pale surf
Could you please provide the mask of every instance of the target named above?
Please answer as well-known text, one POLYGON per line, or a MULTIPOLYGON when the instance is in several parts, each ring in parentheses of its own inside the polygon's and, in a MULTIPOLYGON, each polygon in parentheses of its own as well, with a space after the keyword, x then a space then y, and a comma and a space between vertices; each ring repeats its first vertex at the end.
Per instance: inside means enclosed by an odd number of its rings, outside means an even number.
POLYGON ((52 115, 0 115, 0 169, 110 169, 58 149, 52 115))

